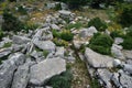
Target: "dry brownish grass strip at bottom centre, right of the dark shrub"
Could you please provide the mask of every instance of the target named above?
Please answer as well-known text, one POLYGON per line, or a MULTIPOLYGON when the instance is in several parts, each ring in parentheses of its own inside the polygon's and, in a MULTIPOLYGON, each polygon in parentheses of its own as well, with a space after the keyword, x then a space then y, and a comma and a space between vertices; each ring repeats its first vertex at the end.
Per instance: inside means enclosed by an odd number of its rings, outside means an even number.
POLYGON ((72 64, 72 70, 74 75, 72 88, 86 88, 90 80, 85 62, 76 58, 76 62, 72 64))

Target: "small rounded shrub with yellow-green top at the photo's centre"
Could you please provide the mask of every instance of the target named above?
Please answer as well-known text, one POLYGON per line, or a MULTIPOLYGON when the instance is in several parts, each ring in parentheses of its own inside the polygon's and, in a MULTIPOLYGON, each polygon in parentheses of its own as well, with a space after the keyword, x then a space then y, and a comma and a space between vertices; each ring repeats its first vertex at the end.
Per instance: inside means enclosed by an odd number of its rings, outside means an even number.
POLYGON ((65 41, 72 41, 74 38, 74 34, 68 30, 64 30, 61 33, 61 38, 65 41))

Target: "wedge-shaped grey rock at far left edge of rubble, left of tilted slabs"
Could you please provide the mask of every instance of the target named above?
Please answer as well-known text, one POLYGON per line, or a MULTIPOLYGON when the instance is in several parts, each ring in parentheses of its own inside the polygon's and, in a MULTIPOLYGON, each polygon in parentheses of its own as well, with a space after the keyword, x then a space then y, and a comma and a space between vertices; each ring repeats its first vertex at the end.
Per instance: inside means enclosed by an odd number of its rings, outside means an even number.
POLYGON ((26 44, 31 40, 25 36, 13 35, 12 41, 14 44, 26 44))

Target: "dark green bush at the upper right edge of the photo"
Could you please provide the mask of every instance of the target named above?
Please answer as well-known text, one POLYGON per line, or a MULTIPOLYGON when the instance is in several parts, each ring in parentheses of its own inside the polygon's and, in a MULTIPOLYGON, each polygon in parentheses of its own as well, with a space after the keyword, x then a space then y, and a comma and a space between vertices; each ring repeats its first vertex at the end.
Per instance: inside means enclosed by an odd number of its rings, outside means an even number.
POLYGON ((118 6, 118 22, 123 26, 130 26, 132 24, 132 4, 122 3, 118 6))

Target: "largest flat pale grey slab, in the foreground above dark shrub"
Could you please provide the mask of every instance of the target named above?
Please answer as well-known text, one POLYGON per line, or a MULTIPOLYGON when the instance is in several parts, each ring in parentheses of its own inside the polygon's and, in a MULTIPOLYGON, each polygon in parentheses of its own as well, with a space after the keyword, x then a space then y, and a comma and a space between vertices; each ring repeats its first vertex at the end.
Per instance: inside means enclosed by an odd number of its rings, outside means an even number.
POLYGON ((44 85, 51 77, 66 70, 66 62, 63 58, 47 58, 31 67, 30 82, 33 85, 44 85))

